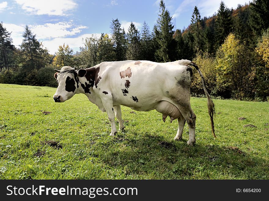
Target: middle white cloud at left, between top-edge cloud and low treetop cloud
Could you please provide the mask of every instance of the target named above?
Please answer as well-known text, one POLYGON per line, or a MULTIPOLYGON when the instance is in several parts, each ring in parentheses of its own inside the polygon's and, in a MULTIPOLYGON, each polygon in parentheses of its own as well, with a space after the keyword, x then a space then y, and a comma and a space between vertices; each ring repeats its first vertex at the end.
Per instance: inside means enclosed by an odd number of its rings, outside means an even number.
POLYGON ((58 22, 55 24, 46 23, 44 25, 30 25, 29 27, 39 40, 73 36, 80 33, 83 28, 87 28, 86 26, 74 27, 72 21, 58 22))

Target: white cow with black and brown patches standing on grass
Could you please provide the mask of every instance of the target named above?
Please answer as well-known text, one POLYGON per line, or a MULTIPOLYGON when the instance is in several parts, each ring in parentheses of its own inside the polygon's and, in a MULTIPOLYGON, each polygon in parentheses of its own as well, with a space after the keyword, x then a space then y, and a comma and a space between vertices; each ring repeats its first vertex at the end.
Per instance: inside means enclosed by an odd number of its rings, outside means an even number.
POLYGON ((57 79, 58 88, 53 99, 55 102, 64 102, 76 93, 85 94, 102 112, 107 112, 111 123, 110 136, 117 133, 115 116, 119 120, 120 130, 124 130, 121 105, 145 112, 155 109, 162 114, 164 122, 167 116, 170 116, 170 122, 178 120, 175 140, 182 139, 183 128, 187 121, 189 127, 187 144, 193 146, 196 115, 190 105, 192 77, 190 66, 194 66, 201 76, 207 97, 212 134, 216 137, 213 122, 214 103, 207 92, 200 69, 189 60, 167 63, 142 60, 102 62, 79 70, 64 66, 61 70, 55 69, 54 77, 57 79))

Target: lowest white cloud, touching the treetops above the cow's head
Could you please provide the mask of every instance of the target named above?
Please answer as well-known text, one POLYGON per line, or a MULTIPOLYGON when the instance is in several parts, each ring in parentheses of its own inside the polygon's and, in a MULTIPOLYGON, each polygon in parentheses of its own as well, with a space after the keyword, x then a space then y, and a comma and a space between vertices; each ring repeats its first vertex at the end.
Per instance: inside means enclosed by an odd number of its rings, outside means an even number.
POLYGON ((101 37, 101 33, 94 33, 94 34, 83 34, 81 36, 77 36, 76 38, 54 38, 53 40, 44 40, 42 44, 44 47, 47 47, 50 54, 54 54, 58 51, 59 45, 68 44, 70 48, 76 51, 79 51, 79 47, 83 46, 83 42, 85 38, 91 37, 95 35, 97 38, 101 37))

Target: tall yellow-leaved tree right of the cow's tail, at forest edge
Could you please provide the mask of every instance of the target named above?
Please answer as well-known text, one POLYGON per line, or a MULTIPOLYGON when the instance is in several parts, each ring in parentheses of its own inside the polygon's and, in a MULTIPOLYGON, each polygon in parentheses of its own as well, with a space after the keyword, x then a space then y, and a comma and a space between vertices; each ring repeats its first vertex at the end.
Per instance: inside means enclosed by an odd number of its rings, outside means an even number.
POLYGON ((253 85, 249 78, 255 69, 248 56, 247 48, 230 33, 216 55, 216 87, 219 95, 236 99, 251 97, 253 85))

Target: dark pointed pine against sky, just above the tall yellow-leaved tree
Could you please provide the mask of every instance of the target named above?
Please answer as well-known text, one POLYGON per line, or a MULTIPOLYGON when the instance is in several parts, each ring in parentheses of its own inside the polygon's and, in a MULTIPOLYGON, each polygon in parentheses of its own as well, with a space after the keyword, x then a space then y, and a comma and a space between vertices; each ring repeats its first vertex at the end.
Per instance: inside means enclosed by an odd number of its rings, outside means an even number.
POLYGON ((230 10, 225 6, 224 2, 220 2, 217 19, 216 19, 216 45, 219 47, 226 36, 231 32, 232 21, 230 10))

